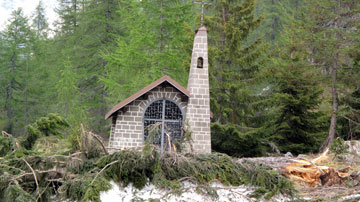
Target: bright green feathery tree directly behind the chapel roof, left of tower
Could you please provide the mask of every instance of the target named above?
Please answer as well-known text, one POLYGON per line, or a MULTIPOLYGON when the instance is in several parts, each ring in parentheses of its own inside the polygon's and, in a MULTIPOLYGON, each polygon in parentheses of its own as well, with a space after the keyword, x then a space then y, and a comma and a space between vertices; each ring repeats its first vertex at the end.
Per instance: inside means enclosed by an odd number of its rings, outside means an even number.
POLYGON ((105 55, 102 78, 108 99, 116 103, 167 74, 185 84, 191 41, 188 22, 191 4, 183 1, 127 1, 120 8, 123 35, 117 47, 105 55), (184 49, 186 51, 184 51, 184 49))

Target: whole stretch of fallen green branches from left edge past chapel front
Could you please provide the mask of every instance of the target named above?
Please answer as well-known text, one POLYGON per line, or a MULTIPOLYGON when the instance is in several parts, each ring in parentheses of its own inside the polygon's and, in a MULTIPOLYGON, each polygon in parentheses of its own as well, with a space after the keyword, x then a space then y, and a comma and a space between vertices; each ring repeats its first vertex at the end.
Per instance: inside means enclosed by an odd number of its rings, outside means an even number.
POLYGON ((239 163, 226 154, 160 152, 149 145, 143 150, 108 154, 100 136, 81 128, 79 151, 50 156, 27 150, 12 135, 3 133, 0 198, 5 202, 100 201, 100 192, 111 188, 110 180, 123 186, 132 183, 138 189, 152 183, 158 188, 170 188, 173 193, 181 193, 186 180, 214 197, 216 190, 209 186, 213 181, 256 186, 256 193, 267 198, 279 193, 292 195, 294 191, 293 184, 270 167, 239 163))

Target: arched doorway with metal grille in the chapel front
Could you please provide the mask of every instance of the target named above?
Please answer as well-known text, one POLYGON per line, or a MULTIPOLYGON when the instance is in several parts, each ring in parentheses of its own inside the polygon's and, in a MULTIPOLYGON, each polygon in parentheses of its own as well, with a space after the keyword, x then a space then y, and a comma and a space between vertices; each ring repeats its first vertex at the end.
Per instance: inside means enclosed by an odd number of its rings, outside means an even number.
POLYGON ((144 140, 151 135, 153 144, 161 151, 168 151, 173 147, 173 141, 181 138, 183 118, 183 112, 176 103, 167 99, 152 102, 144 113, 144 140))

